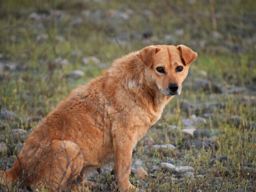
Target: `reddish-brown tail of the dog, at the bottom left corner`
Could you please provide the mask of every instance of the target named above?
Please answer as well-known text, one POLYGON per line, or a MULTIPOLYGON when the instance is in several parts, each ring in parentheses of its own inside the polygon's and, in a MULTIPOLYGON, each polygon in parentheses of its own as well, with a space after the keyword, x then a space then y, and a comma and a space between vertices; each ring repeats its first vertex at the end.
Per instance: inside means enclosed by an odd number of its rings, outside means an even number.
POLYGON ((0 184, 9 185, 15 183, 21 175, 20 166, 17 166, 16 162, 12 169, 0 171, 0 184))

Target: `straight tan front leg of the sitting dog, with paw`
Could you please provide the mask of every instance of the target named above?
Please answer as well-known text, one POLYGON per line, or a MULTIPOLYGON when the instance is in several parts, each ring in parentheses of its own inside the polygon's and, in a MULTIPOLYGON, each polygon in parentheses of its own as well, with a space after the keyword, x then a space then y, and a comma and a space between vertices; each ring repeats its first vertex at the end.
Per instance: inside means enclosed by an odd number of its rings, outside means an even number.
POLYGON ((114 133, 113 144, 115 150, 114 172, 116 188, 118 188, 120 192, 132 192, 136 189, 129 181, 134 134, 128 132, 114 133))

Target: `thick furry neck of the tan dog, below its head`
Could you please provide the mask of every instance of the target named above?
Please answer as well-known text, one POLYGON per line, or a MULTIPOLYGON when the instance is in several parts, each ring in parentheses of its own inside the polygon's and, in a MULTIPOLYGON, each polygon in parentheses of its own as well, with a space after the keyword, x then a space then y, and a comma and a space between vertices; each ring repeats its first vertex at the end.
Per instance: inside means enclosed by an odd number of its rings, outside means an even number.
POLYGON ((136 56, 137 52, 116 60, 113 67, 108 70, 109 75, 115 76, 123 88, 134 95, 143 108, 154 115, 162 114, 164 106, 173 96, 165 96, 158 88, 147 86, 144 70, 145 66, 136 56))

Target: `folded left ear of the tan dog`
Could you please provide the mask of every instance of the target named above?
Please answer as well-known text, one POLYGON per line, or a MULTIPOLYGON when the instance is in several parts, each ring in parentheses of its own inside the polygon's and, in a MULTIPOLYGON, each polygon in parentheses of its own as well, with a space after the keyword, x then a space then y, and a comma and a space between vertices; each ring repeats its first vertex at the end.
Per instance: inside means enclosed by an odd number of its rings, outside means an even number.
POLYGON ((142 63, 144 63, 148 68, 150 68, 154 62, 154 57, 156 53, 160 50, 160 48, 153 45, 147 46, 140 50, 140 52, 137 54, 137 57, 142 63))

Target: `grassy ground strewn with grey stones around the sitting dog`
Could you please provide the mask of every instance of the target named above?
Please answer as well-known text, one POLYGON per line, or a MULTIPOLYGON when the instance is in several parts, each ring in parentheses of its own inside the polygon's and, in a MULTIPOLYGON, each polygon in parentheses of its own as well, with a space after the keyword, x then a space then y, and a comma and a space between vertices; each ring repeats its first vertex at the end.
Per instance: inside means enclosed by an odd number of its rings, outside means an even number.
MULTIPOLYGON (((198 59, 134 150, 130 181, 140 192, 256 191, 255 17, 253 0, 0 1, 0 169, 115 58, 185 44, 198 59)), ((114 191, 111 170, 89 178, 98 183, 90 190, 114 191)))

